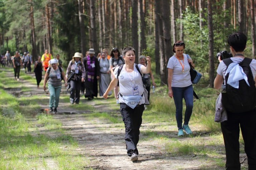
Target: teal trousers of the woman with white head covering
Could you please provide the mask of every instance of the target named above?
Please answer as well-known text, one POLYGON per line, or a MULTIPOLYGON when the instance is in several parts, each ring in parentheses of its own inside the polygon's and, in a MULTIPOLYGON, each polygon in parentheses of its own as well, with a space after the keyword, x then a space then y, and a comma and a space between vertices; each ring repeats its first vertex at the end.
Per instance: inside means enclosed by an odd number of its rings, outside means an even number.
POLYGON ((50 93, 49 107, 57 108, 59 104, 59 95, 61 91, 61 86, 52 86, 48 84, 48 90, 50 93))

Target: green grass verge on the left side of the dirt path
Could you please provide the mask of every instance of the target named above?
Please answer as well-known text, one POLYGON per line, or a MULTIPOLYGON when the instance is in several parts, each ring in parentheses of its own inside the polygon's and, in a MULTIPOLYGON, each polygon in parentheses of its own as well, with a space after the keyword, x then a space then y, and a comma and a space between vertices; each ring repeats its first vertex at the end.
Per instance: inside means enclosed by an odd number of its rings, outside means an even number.
MULTIPOLYGON (((5 74, 5 71, 0 73, 0 87, 29 90, 13 78, 4 77, 5 74)), ((30 75, 22 74, 22 79, 34 81, 30 75)), ((89 159, 77 152, 78 142, 62 128, 60 120, 41 113, 39 103, 47 103, 47 98, 17 98, 3 88, 0 88, 0 169, 83 169, 89 164, 89 159), (31 115, 36 115, 33 121, 31 115)))

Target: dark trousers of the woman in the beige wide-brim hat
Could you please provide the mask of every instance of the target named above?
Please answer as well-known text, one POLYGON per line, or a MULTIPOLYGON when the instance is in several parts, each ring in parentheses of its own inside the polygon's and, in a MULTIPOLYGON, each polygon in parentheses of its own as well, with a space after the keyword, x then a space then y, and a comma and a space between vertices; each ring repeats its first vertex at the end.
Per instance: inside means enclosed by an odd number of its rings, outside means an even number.
POLYGON ((79 103, 80 101, 80 90, 81 90, 81 80, 72 80, 70 81, 70 102, 79 103))

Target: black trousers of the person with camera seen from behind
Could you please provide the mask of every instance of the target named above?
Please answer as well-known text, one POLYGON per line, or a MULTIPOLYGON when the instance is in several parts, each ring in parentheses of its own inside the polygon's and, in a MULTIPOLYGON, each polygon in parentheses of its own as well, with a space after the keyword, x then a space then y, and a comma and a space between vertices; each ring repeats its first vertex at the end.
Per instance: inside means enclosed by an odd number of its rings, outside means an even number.
POLYGON ((256 169, 256 112, 227 112, 228 120, 221 123, 226 150, 226 169, 240 170, 239 133, 244 140, 244 151, 248 158, 248 169, 256 169), (240 125, 240 128, 239 128, 240 125))

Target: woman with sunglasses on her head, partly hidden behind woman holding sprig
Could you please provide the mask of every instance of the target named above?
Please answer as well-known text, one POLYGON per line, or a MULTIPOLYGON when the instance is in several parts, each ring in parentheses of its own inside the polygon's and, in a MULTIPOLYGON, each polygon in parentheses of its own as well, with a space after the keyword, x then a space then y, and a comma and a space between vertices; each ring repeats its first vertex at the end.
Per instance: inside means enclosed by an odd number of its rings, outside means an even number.
MULTIPOLYGON (((110 58, 109 64, 110 64, 111 79, 113 80, 115 68, 122 64, 125 64, 125 61, 117 48, 113 48, 110 56, 112 58, 110 58)), ((114 87, 114 94, 115 94, 115 98, 116 98, 116 103, 118 104, 119 103, 118 98, 117 98, 118 86, 114 87)))

